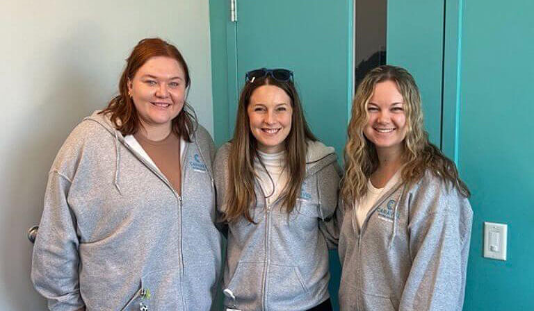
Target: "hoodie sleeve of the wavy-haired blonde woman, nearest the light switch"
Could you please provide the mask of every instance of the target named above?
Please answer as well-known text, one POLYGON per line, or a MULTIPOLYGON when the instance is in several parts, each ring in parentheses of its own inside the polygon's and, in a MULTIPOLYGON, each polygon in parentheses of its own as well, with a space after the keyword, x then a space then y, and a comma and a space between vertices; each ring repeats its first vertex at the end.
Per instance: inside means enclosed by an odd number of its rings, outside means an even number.
POLYGON ((437 180, 421 188, 410 203, 412 267, 399 310, 462 310, 471 206, 437 180))

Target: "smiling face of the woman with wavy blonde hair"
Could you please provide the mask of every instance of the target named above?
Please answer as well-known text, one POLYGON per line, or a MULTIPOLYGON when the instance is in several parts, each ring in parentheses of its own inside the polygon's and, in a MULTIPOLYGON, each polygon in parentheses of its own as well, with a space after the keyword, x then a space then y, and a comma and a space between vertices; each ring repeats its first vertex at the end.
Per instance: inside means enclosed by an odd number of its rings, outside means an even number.
POLYGON ((369 120, 364 135, 377 150, 398 152, 403 148, 407 124, 403 95, 394 81, 376 83, 367 104, 369 120))

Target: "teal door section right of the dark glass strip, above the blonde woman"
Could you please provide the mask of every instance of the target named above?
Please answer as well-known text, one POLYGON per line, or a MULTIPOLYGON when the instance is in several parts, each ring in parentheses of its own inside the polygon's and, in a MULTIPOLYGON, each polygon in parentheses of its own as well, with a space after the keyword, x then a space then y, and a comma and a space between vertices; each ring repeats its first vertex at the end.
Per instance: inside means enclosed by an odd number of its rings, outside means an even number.
POLYGON ((442 146, 445 0, 387 1, 387 64, 405 67, 421 90, 430 141, 442 146))

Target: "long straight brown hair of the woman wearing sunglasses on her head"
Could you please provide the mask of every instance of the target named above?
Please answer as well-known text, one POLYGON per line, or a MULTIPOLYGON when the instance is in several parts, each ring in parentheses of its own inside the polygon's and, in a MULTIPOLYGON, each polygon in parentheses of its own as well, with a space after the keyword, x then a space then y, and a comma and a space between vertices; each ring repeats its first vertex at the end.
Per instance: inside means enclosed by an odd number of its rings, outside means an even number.
POLYGON ((289 131, 285 144, 285 167, 288 176, 291 176, 288 183, 282 190, 284 196, 282 206, 286 212, 291 212, 300 196, 300 187, 306 175, 306 151, 307 141, 316 141, 316 138, 309 130, 309 126, 304 117, 298 92, 293 82, 277 81, 276 79, 264 76, 257 78, 254 83, 247 82, 241 90, 239 104, 237 108, 236 127, 234 137, 229 152, 229 186, 226 194, 227 209, 223 215, 224 221, 236 221, 239 217, 245 217, 254 223, 250 217, 250 205, 256 203, 254 193, 254 158, 259 160, 257 152, 257 141, 250 131, 250 119, 248 118, 248 105, 252 92, 262 85, 275 85, 280 87, 291 98, 291 131, 289 131))

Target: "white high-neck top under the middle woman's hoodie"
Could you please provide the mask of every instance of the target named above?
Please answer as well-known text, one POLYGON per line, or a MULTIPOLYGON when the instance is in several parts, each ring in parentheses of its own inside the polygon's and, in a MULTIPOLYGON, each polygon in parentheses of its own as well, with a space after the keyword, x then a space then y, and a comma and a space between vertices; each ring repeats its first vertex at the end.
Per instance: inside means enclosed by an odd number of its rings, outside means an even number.
POLYGON ((261 186, 261 189, 264 190, 267 204, 270 204, 278 199, 280 192, 284 189, 287 182, 287 170, 284 169, 286 165, 286 155, 284 151, 279 153, 264 153, 258 151, 258 154, 261 158, 261 162, 264 163, 265 168, 261 165, 259 160, 254 159, 254 170, 259 176, 259 185, 261 186), (273 180, 271 180, 271 178, 273 180))

